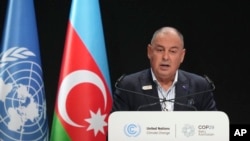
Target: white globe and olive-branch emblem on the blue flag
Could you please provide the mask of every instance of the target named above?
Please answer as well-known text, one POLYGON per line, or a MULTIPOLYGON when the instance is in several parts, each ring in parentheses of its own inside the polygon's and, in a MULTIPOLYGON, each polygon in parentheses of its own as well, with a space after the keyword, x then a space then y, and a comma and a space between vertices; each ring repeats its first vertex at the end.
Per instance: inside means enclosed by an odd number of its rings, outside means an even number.
POLYGON ((0 55, 0 140, 47 140, 42 69, 36 54, 12 47, 0 55))

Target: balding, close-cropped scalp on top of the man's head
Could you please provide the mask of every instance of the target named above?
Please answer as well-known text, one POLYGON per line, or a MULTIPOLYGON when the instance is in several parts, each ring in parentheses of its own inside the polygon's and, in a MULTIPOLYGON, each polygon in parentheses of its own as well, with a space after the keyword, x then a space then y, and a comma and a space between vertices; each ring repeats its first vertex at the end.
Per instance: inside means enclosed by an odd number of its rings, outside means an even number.
POLYGON ((157 35, 159 34, 172 34, 172 35, 177 35, 179 36, 180 40, 182 41, 183 47, 184 47, 184 37, 181 34, 181 32, 179 30, 177 30, 174 27, 162 27, 158 30, 155 31, 155 33, 153 34, 153 37, 151 39, 151 44, 154 41, 154 39, 156 38, 157 35))

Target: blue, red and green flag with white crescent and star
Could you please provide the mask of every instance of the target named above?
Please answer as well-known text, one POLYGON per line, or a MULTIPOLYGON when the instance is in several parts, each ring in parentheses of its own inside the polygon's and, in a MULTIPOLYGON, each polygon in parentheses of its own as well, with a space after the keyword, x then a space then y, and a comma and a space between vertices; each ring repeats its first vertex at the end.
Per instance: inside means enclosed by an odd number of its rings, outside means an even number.
POLYGON ((104 141, 112 97, 98 0, 73 0, 51 141, 104 141))

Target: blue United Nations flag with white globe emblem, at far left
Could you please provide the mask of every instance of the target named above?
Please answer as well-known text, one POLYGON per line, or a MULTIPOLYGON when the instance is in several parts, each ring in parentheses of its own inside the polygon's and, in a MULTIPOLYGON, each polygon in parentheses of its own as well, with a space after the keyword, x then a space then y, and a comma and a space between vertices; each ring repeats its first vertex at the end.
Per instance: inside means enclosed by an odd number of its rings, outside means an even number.
POLYGON ((9 0, 0 54, 0 141, 46 141, 48 122, 33 0, 9 0))

